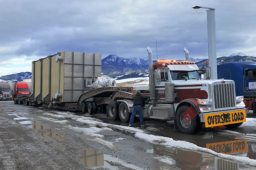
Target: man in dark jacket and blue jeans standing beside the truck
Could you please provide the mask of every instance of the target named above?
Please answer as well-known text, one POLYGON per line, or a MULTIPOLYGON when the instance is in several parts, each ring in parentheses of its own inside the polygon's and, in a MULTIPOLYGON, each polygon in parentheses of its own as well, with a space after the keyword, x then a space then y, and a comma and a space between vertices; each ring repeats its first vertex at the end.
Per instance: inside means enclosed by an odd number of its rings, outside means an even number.
POLYGON ((140 116, 140 126, 145 126, 143 122, 143 115, 142 115, 142 107, 145 105, 145 98, 140 94, 140 91, 137 91, 133 100, 134 100, 134 105, 131 113, 129 126, 131 126, 132 123, 134 122, 134 117, 137 113, 139 113, 139 116, 140 116))

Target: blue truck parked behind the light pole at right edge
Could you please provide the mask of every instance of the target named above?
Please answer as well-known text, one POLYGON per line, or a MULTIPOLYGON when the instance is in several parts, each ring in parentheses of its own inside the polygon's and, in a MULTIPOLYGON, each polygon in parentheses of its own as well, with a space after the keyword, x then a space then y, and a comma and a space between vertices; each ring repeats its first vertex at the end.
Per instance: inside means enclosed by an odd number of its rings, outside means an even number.
POLYGON ((226 62, 217 66, 218 79, 231 79, 236 85, 236 96, 244 96, 247 110, 256 113, 256 62, 226 62))

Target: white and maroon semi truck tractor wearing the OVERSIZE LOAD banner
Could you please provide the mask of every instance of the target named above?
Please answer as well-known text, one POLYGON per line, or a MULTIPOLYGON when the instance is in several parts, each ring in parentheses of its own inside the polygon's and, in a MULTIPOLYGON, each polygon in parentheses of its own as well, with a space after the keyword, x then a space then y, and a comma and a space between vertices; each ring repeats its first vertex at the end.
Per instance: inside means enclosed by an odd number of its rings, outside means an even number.
POLYGON ((152 62, 149 118, 174 119, 180 131, 189 134, 198 132, 202 125, 238 127, 246 121, 244 98, 236 96, 233 80, 199 79, 195 62, 153 61, 151 49, 147 50, 152 62))

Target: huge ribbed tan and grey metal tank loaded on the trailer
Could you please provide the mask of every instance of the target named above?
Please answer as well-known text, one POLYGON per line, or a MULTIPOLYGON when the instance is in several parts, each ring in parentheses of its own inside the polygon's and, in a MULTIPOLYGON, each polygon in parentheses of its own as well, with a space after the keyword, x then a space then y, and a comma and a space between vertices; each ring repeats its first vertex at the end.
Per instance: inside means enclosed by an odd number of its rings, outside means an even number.
POLYGON ((33 61, 29 100, 77 102, 101 76, 101 58, 101 54, 64 51, 33 61))

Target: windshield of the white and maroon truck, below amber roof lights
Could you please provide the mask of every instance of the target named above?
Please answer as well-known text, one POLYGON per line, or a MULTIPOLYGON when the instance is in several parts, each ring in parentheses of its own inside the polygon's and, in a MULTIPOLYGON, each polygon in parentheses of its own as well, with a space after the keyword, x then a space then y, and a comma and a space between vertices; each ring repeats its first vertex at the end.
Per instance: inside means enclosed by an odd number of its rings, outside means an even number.
POLYGON ((197 71, 170 71, 173 80, 199 79, 197 71))

